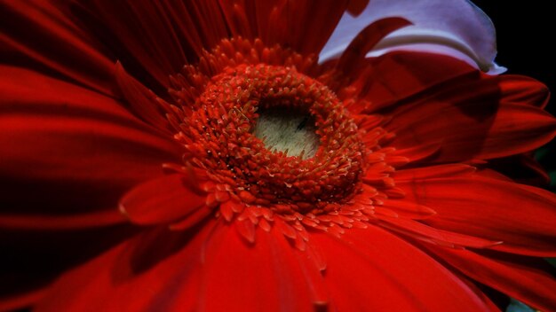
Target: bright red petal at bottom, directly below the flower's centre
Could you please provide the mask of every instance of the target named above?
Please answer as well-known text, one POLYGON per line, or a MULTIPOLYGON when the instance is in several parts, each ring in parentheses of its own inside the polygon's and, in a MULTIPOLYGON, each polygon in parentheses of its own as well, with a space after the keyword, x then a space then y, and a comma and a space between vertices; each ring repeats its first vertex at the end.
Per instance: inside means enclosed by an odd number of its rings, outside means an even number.
MULTIPOLYGON (((233 230, 233 229, 232 229, 233 230)), ((254 245, 228 232, 210 246, 199 297, 207 311, 312 310, 315 281, 307 279, 304 263, 282 234, 257 231, 254 245)), ((311 267, 309 267, 311 268, 311 267)), ((311 268, 315 274, 319 270, 311 268)), ((322 278, 322 277, 321 277, 322 278)), ((322 283, 322 282, 320 282, 322 283)))

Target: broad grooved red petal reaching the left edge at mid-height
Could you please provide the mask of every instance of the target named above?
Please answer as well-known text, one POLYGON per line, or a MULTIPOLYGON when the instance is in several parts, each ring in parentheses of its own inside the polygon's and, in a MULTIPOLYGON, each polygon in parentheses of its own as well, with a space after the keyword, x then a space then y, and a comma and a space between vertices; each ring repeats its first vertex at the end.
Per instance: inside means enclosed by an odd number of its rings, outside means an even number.
POLYGON ((25 69, 0 73, 0 175, 11 181, 0 190, 4 211, 114 207, 180 159, 178 144, 112 98, 25 69))

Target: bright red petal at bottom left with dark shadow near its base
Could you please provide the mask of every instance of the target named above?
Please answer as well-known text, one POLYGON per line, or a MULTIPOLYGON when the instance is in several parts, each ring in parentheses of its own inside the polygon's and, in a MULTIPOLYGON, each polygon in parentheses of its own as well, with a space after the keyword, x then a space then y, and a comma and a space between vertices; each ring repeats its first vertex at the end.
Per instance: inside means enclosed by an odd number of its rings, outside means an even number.
POLYGON ((203 277, 204 244, 223 233, 227 231, 213 222, 194 232, 146 230, 66 273, 36 310, 194 310, 203 277))

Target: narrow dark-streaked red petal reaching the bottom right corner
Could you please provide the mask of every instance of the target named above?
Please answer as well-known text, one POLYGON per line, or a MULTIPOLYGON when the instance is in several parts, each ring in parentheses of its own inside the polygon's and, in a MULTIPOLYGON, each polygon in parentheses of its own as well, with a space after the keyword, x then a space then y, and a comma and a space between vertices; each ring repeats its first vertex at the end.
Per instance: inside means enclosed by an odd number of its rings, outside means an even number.
POLYGON ((434 246, 428 249, 481 284, 540 310, 550 311, 556 307, 556 279, 541 269, 540 262, 518 257, 512 259, 504 253, 488 255, 434 246))

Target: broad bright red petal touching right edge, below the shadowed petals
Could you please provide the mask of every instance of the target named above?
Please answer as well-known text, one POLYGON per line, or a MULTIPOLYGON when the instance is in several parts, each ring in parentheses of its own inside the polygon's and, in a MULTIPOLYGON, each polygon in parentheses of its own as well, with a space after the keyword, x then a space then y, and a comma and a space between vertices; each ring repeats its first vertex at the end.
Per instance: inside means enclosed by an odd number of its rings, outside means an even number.
POLYGON ((406 200, 433 208, 425 222, 504 243, 510 253, 556 256, 556 195, 499 179, 472 176, 397 183, 406 200))

